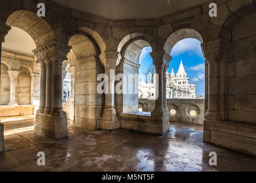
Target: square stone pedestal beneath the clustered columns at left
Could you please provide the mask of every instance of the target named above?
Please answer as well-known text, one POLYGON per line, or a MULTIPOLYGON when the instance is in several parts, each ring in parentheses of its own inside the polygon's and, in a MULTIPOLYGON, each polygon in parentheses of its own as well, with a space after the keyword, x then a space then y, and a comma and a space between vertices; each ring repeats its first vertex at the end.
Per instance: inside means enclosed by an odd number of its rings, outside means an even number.
POLYGON ((52 140, 68 138, 68 119, 66 113, 64 112, 58 116, 37 113, 34 133, 52 140))

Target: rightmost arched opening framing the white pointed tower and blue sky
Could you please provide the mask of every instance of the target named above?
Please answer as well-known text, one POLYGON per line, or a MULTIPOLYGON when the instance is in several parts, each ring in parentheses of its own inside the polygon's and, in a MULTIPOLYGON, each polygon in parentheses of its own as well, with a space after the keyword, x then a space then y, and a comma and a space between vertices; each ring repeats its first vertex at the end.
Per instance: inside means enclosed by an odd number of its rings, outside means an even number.
POLYGON ((172 33, 164 45, 166 53, 172 56, 166 74, 170 122, 203 124, 207 72, 202 42, 197 31, 180 29, 172 33), (200 110, 188 111, 189 106, 200 110))

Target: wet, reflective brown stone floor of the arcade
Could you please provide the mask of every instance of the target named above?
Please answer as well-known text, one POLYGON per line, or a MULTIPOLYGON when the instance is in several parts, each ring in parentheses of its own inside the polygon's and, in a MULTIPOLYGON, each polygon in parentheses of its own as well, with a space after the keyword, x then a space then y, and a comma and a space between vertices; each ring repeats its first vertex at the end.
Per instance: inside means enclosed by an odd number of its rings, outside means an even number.
POLYGON ((27 130, 5 136, 5 147, 0 171, 256 171, 255 157, 204 143, 196 125, 171 124, 160 137, 124 129, 84 132, 71 122, 67 139, 27 130), (45 153, 45 166, 37 165, 38 152, 45 153), (218 154, 217 166, 208 165, 210 152, 218 154))

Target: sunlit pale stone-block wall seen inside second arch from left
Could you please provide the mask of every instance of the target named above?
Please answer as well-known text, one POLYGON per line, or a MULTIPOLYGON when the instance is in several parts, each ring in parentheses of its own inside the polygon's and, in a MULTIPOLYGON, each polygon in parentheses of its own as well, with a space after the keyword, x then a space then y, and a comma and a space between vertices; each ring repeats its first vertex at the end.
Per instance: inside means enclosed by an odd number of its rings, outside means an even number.
POLYGON ((97 123, 103 110, 103 95, 97 94, 97 75, 101 65, 94 57, 81 59, 75 66, 74 124, 86 130, 97 129, 97 123))

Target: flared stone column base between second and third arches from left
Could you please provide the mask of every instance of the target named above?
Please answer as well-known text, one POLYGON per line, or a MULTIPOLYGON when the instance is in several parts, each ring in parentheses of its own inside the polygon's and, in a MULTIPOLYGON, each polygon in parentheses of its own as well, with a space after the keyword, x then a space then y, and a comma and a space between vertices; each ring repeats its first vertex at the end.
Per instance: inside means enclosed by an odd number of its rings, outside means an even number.
POLYGON ((116 116, 115 107, 105 107, 103 116, 100 118, 99 129, 115 130, 120 128, 119 118, 116 116))

